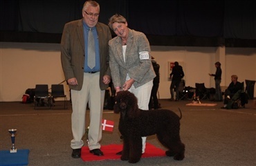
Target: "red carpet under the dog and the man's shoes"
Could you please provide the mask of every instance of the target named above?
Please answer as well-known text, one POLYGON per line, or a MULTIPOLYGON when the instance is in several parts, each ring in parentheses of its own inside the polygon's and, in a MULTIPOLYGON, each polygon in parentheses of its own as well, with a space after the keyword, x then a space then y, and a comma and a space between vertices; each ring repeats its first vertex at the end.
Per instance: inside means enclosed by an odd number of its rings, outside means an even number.
MULTIPOLYGON (((93 160, 119 160, 120 155, 116 155, 118 151, 122 151, 122 145, 103 145, 100 148, 104 156, 95 156, 89 152, 88 147, 82 147, 81 158, 84 161, 93 161, 93 160)), ((156 156, 165 156, 165 151, 158 147, 154 147, 147 143, 145 153, 142 158, 156 157, 156 156)))

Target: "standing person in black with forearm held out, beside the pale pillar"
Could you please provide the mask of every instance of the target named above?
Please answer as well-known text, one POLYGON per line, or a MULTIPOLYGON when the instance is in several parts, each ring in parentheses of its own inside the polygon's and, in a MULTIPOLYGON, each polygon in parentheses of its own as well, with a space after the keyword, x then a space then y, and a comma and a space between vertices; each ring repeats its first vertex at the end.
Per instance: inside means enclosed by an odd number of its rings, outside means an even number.
POLYGON ((215 74, 209 73, 209 75, 214 76, 214 80, 215 80, 215 101, 222 102, 223 98, 222 98, 222 93, 221 93, 221 74, 222 74, 221 63, 216 62, 215 67, 216 67, 215 74))

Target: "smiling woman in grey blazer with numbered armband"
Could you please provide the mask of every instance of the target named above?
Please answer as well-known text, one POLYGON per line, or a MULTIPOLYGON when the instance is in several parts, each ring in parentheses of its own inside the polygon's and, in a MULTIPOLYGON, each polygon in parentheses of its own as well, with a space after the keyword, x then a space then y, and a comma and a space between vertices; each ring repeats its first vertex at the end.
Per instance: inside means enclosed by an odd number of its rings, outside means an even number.
MULTIPOLYGON (((116 33, 109 41, 109 67, 116 92, 131 91, 138 98, 139 109, 148 110, 153 79, 156 77, 151 62, 147 37, 127 27, 121 15, 109 19, 109 27, 116 33)), ((145 152, 143 137, 143 153, 145 152)))

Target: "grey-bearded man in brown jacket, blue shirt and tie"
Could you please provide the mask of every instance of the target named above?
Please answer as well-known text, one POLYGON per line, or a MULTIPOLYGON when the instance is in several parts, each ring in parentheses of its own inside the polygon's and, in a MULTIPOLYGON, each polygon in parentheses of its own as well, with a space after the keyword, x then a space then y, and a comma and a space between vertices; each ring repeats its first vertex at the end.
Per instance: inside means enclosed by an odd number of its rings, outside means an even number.
POLYGON ((73 109, 73 158, 80 158, 84 145, 82 137, 87 102, 90 109, 88 146, 92 154, 103 155, 99 142, 102 138, 104 92, 111 81, 108 46, 111 33, 108 26, 98 22, 99 14, 100 5, 95 1, 86 1, 82 8, 83 18, 67 23, 62 34, 62 68, 71 89, 73 109))

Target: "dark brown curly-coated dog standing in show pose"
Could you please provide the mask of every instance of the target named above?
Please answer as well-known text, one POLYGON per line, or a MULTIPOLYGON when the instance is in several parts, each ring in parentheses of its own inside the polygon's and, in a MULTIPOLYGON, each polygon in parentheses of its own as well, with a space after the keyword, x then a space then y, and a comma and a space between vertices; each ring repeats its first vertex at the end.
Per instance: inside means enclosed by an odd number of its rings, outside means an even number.
POLYGON ((167 156, 183 160, 185 145, 179 135, 181 118, 167 109, 140 110, 137 103, 136 96, 129 91, 119 91, 116 95, 114 113, 120 113, 118 129, 123 138, 121 160, 137 163, 142 154, 141 137, 154 134, 167 147, 167 156))

